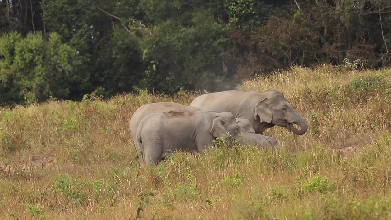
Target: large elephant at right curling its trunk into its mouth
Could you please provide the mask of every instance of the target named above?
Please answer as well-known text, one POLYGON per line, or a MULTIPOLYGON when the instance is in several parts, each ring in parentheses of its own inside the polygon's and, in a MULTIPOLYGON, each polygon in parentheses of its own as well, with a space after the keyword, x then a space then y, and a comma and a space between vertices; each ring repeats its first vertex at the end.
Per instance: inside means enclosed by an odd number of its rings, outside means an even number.
POLYGON ((285 127, 296 135, 303 135, 308 128, 304 117, 276 90, 212 92, 198 96, 190 106, 206 111, 231 112, 236 118, 246 118, 259 134, 274 125, 285 127))

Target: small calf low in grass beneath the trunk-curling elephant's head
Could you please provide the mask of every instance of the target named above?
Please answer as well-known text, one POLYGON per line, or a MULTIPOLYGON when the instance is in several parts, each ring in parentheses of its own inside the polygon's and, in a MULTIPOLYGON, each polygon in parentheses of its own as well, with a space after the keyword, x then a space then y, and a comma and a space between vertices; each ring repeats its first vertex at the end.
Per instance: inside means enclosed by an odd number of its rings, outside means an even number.
POLYGON ((265 136, 257 133, 242 132, 242 138, 238 140, 239 145, 251 144, 260 148, 269 148, 274 150, 278 148, 278 142, 274 137, 265 136))

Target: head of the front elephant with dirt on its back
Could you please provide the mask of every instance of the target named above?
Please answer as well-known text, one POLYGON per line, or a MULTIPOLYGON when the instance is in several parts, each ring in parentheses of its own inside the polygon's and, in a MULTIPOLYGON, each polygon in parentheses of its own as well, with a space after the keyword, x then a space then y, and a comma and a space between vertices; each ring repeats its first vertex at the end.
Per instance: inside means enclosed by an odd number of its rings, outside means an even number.
MULTIPOLYGON (((215 113, 210 133, 213 137, 223 137, 223 135, 227 132, 234 140, 239 138, 241 131, 239 124, 236 123, 235 116, 233 116, 231 112, 215 113)), ((230 145, 229 139, 228 145, 230 145)))

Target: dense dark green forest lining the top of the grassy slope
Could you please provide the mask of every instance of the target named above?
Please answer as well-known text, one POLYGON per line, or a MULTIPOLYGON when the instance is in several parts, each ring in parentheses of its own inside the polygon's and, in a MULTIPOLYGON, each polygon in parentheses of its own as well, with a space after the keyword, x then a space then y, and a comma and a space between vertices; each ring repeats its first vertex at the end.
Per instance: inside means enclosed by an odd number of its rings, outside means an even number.
POLYGON ((0 0, 0 105, 222 90, 291 65, 383 67, 390 10, 390 0, 0 0))

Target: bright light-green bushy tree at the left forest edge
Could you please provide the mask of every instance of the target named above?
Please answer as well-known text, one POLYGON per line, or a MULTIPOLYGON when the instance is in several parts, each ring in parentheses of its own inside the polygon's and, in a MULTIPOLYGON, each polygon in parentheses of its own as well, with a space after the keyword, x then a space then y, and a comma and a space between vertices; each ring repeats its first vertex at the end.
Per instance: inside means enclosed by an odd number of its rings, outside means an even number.
POLYGON ((79 75, 83 63, 77 51, 61 43, 52 32, 45 41, 40 33, 11 32, 0 38, 0 103, 44 101, 49 96, 70 97, 88 79, 79 75))

